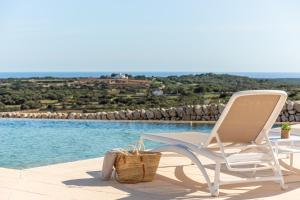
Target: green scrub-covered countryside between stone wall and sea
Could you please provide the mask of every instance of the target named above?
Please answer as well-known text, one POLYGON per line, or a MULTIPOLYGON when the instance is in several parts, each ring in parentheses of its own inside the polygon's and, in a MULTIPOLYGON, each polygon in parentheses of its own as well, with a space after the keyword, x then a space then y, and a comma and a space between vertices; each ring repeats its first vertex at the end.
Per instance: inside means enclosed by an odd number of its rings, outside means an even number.
POLYGON ((300 99, 300 79, 253 79, 227 74, 126 78, 10 78, 0 80, 0 111, 98 112, 226 103, 232 93, 281 89, 300 99))

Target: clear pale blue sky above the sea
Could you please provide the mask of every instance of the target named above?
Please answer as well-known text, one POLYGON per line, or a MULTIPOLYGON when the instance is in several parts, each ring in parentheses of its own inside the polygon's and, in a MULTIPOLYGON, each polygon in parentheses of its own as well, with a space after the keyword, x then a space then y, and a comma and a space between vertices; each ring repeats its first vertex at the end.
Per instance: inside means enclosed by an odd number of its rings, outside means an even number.
POLYGON ((0 0, 0 71, 300 72, 300 1, 0 0))

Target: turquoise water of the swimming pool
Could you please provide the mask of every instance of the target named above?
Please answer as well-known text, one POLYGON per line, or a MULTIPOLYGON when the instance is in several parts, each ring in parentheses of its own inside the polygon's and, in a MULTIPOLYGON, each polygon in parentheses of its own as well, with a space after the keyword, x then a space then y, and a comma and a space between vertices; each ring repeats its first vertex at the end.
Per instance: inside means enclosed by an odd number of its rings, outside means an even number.
MULTIPOLYGON (((0 167, 23 169, 103 156, 127 147, 141 133, 202 131, 181 123, 0 119, 0 167)), ((157 144, 146 142, 151 148, 157 144)))

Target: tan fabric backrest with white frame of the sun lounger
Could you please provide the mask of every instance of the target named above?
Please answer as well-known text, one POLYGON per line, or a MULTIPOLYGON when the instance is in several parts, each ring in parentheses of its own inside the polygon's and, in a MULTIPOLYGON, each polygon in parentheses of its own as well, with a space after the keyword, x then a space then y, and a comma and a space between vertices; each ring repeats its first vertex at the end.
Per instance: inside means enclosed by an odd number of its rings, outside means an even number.
MULTIPOLYGON (((275 123, 287 95, 283 91, 244 91, 229 100, 212 134, 222 143, 251 143, 275 123)), ((208 143, 216 142, 212 137, 208 143)))

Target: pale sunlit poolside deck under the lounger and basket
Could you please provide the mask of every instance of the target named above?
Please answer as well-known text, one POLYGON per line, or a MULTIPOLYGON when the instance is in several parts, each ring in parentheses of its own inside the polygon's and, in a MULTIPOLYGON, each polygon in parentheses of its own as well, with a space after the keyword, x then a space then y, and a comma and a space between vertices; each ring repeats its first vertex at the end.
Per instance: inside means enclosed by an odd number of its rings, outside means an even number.
MULTIPOLYGON (((0 168, 1 200, 49 199, 208 199, 203 177, 190 162, 175 154, 166 154, 151 183, 119 184, 101 181, 103 158, 49 165, 25 170, 0 168), (183 166, 178 166, 178 160, 183 166)), ((209 161, 204 161, 211 168, 209 161)), ((284 164, 284 163, 283 163, 284 164)), ((285 166, 285 165, 283 165, 285 166)), ((295 156, 292 171, 284 170, 288 189, 282 191, 272 182, 235 184, 223 187, 216 199, 295 199, 300 196, 300 156, 295 156)), ((211 170, 209 170, 212 172, 211 170)), ((231 175, 223 171, 223 177, 231 175)), ((240 175, 241 176, 241 175, 240 175)))

